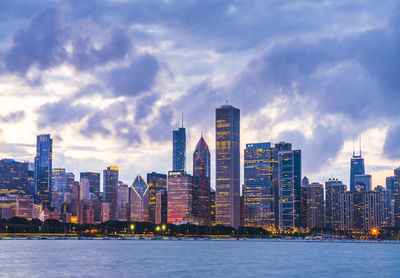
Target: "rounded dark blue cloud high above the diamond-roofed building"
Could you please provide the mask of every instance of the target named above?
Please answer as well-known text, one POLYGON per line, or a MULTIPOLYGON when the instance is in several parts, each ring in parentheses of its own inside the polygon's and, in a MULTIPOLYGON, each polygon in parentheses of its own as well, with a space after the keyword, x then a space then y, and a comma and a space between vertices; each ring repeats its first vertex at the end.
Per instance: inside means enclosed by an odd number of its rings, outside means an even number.
POLYGON ((129 66, 107 74, 107 83, 116 96, 137 96, 154 87, 159 70, 159 63, 153 55, 139 55, 129 66))

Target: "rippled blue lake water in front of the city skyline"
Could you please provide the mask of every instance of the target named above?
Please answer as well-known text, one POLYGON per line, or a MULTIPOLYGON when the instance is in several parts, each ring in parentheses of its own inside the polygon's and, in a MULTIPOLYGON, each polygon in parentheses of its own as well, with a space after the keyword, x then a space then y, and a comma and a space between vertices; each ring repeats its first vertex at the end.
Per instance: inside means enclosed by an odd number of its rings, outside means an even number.
POLYGON ((1 277, 400 277, 400 244, 1 240, 1 277))

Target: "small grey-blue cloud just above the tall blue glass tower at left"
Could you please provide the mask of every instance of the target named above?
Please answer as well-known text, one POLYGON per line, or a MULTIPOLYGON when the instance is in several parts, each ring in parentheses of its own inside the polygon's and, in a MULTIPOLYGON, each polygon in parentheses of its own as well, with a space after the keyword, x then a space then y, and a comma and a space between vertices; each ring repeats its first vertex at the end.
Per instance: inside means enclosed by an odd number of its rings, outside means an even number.
POLYGON ((40 106, 36 111, 38 114, 37 126, 39 128, 64 126, 80 121, 91 112, 90 107, 72 102, 72 99, 62 99, 40 106))

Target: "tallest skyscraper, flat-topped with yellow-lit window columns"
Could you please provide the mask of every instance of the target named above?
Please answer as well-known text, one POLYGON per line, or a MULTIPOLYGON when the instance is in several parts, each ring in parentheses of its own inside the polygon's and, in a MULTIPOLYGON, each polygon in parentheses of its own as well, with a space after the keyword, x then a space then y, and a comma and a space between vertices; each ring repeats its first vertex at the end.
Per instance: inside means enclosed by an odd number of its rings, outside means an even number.
POLYGON ((240 110, 216 109, 216 224, 240 225, 240 110))

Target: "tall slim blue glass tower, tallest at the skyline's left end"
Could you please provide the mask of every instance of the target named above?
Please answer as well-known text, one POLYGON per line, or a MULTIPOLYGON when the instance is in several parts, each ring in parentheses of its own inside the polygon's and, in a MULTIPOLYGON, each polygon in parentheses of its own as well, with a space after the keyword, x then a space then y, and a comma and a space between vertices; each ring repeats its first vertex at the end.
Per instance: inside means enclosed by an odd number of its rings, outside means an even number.
POLYGON ((38 135, 35 157, 34 195, 35 202, 43 203, 47 207, 51 205, 52 154, 53 139, 50 138, 50 134, 38 135))

